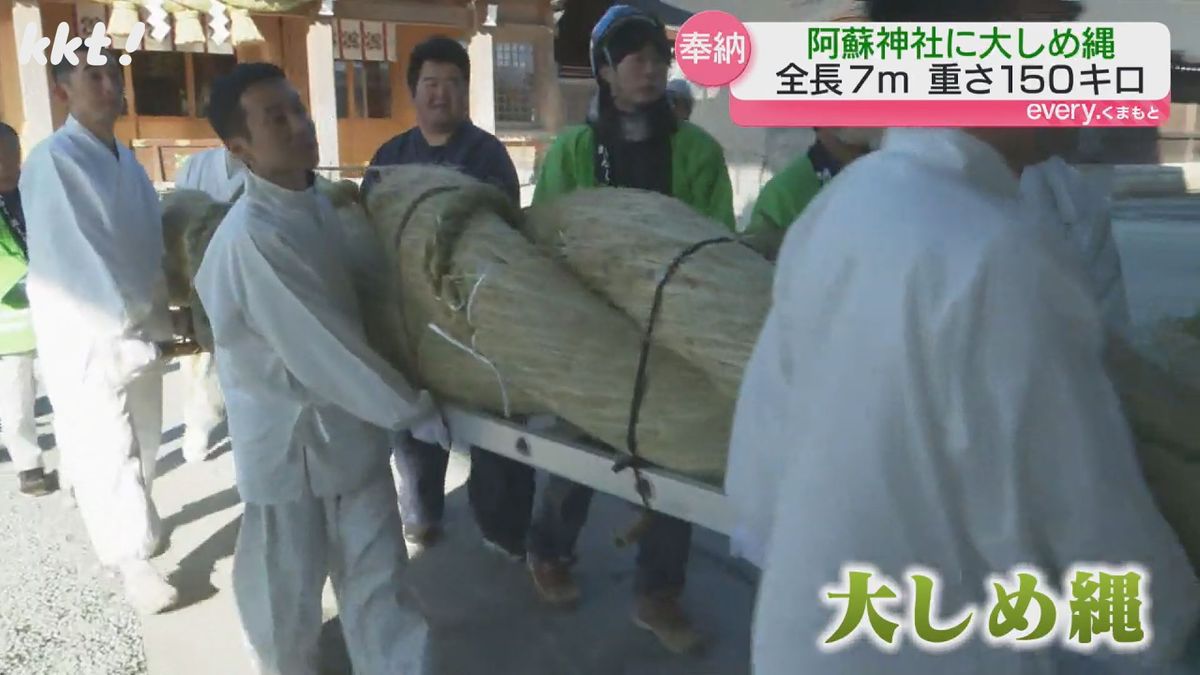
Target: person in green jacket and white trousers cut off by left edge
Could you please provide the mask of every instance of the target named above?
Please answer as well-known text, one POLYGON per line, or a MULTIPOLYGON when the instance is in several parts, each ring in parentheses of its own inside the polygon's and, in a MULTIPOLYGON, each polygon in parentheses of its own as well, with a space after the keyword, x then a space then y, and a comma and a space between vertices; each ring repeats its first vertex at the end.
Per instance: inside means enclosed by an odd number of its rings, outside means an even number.
POLYGON ((34 404, 34 327, 25 297, 24 213, 20 208, 20 138, 0 123, 0 440, 8 449, 23 495, 54 491, 42 466, 34 404))

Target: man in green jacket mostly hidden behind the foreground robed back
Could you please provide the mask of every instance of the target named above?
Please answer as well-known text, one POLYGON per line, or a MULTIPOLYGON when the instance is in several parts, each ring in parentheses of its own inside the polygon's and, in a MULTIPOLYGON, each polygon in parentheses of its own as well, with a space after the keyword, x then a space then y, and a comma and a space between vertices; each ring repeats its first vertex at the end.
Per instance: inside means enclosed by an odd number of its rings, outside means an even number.
POLYGON ((876 129, 817 129, 816 142, 758 192, 746 243, 775 259, 784 234, 822 187, 850 162, 870 153, 882 136, 876 129))

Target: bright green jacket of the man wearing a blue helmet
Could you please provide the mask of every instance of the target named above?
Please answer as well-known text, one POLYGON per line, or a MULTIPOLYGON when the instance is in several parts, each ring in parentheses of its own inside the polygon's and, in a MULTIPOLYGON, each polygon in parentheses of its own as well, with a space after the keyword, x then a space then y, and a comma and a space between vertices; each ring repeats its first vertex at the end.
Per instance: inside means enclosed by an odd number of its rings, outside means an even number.
MULTIPOLYGON (((598 187, 595 132, 588 125, 564 130, 546 151, 533 203, 572 190, 598 187)), ((691 123, 671 137, 671 196, 733 229, 733 185, 720 143, 691 123)))

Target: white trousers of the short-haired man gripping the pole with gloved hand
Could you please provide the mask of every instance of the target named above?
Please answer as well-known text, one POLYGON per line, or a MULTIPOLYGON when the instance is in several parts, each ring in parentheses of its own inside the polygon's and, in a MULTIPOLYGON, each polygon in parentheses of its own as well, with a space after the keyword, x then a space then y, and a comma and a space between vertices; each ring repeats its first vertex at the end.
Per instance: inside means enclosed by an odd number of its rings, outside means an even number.
POLYGON ((347 495, 246 503, 233 586, 262 674, 317 675, 320 596, 332 580, 355 675, 426 675, 428 626, 407 599, 391 476, 347 495))

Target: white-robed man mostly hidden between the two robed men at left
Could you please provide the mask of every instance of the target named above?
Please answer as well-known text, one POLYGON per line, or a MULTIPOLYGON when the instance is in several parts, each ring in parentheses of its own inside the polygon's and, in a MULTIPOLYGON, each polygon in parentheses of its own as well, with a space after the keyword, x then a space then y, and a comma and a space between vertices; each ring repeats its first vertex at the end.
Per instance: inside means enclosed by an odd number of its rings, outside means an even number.
MULTIPOLYGON (((175 178, 179 190, 199 190, 218 202, 238 198, 246 185, 246 167, 224 148, 203 150, 187 159, 175 178)), ((224 418, 224 398, 212 354, 180 359, 184 375, 184 459, 202 461, 211 449, 212 430, 224 418)))

